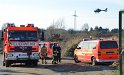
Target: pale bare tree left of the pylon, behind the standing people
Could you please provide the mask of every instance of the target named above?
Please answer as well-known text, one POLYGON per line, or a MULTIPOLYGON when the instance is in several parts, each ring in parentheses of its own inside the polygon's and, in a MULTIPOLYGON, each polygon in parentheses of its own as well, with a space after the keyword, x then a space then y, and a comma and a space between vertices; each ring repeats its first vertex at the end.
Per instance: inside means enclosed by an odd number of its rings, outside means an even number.
POLYGON ((61 38, 61 36, 63 36, 63 33, 65 33, 64 28, 65 28, 64 19, 58 19, 56 22, 53 22, 53 24, 47 28, 48 34, 47 39, 58 40, 59 38, 61 38))

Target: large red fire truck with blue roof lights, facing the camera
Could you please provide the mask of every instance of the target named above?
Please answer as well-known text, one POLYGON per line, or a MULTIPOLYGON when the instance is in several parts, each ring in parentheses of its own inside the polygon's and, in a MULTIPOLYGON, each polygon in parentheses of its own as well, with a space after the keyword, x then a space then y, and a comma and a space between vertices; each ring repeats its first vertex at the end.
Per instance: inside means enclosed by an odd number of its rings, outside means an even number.
POLYGON ((3 66, 25 63, 37 66, 39 60, 38 28, 34 24, 20 25, 6 23, 2 28, 3 66))

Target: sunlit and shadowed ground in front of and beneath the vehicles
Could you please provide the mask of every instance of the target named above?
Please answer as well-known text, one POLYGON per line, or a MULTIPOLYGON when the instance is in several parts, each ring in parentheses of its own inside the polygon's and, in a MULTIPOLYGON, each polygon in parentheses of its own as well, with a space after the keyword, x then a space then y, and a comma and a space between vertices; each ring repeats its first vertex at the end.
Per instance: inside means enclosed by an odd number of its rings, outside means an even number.
POLYGON ((91 66, 90 64, 74 63, 73 60, 63 59, 62 63, 52 65, 25 66, 24 64, 14 64, 12 67, 3 67, 0 58, 0 75, 116 75, 114 67, 109 65, 91 66))

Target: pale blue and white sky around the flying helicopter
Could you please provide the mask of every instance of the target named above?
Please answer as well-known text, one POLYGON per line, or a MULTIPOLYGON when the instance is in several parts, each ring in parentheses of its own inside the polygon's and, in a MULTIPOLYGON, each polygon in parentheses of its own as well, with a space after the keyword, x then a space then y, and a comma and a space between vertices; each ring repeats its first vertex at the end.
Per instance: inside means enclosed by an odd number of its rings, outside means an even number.
POLYGON ((124 9, 123 0, 0 0, 0 26, 3 23, 22 25, 34 23, 40 28, 49 27, 53 21, 63 19, 65 28, 73 28, 74 11, 77 11, 77 26, 118 28, 118 12, 124 9), (94 13, 97 8, 108 12, 94 13))

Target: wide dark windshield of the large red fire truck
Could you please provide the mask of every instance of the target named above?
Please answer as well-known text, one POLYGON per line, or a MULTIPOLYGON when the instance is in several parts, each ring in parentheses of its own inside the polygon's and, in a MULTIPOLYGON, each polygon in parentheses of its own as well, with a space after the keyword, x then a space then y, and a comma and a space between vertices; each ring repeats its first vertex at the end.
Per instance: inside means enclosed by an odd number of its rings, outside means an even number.
POLYGON ((9 40, 37 40, 37 31, 9 31, 9 40))

